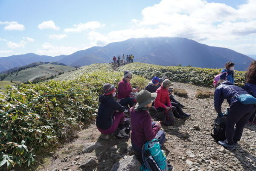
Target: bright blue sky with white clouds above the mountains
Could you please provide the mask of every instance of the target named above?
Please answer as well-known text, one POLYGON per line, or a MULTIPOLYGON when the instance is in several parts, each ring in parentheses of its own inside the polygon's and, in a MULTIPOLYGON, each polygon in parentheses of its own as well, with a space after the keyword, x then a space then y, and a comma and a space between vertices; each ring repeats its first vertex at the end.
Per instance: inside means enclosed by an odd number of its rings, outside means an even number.
POLYGON ((0 0, 0 57, 185 37, 256 55, 255 0, 0 0))

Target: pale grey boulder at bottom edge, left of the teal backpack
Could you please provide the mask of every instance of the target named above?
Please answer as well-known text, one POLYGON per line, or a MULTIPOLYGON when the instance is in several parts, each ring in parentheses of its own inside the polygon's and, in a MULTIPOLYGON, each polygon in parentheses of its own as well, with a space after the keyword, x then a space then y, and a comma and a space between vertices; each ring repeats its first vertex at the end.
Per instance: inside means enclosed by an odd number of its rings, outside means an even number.
POLYGON ((111 171, 140 171, 140 166, 140 162, 133 155, 116 162, 111 168, 111 171))

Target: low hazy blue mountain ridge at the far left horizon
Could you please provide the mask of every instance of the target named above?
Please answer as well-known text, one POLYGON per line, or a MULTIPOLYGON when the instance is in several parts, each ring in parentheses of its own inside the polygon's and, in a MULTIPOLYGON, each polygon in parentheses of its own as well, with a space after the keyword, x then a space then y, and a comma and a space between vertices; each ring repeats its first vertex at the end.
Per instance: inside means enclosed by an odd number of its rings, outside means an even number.
POLYGON ((12 55, 9 57, 0 58, 0 72, 9 70, 14 67, 21 67, 32 64, 33 62, 53 62, 66 57, 67 55, 59 55, 56 57, 46 55, 36 55, 34 53, 27 53, 24 55, 12 55))

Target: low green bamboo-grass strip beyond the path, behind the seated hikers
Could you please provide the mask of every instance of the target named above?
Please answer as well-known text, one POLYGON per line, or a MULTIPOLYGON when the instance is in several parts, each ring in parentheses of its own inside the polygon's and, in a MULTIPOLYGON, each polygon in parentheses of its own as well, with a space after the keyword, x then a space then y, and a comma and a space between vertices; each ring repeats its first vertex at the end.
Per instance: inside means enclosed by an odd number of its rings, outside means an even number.
MULTIPOLYGON (((208 68, 196 68, 196 67, 163 67, 160 65, 144 64, 144 63, 132 63, 127 64, 118 69, 123 72, 124 70, 130 70, 132 73, 142 75, 147 79, 151 79, 153 76, 162 77, 166 75, 171 81, 190 83, 204 87, 212 87, 212 81, 215 75, 221 72, 221 69, 208 69, 208 68)), ((235 72, 235 84, 243 86, 245 72, 235 72)))

